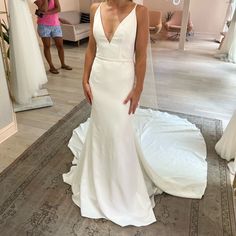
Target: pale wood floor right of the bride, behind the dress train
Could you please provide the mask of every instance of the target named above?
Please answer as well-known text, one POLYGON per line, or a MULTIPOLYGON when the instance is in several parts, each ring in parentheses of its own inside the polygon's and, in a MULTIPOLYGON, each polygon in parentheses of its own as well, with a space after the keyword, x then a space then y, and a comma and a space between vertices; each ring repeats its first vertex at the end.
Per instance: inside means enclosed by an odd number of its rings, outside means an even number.
POLYGON ((215 59, 218 44, 210 41, 190 42, 184 52, 169 44, 154 48, 160 108, 227 122, 236 109, 236 66, 215 59))

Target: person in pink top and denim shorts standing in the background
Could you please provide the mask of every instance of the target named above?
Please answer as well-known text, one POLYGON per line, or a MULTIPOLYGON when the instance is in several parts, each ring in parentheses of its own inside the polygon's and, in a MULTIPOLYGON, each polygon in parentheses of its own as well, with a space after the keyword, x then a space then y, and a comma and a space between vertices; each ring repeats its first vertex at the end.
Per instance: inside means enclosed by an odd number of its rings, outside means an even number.
POLYGON ((50 52, 51 38, 55 41, 61 68, 72 70, 70 66, 65 64, 62 30, 58 16, 58 12, 61 10, 59 0, 36 0, 34 3, 38 6, 35 12, 38 16, 38 34, 43 42, 44 55, 50 67, 49 71, 53 74, 59 73, 52 63, 50 52))

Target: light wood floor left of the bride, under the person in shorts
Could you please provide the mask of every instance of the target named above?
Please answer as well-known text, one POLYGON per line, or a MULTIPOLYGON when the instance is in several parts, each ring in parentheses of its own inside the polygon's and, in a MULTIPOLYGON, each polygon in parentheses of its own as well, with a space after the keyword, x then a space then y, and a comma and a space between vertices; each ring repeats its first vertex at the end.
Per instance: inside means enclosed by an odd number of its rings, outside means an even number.
MULTIPOLYGON (((85 48, 85 44, 82 44, 79 48, 73 45, 66 45, 66 61, 67 64, 73 67, 73 70, 60 70, 59 75, 48 73, 48 83, 45 88, 48 89, 54 102, 52 107, 16 114, 18 133, 0 144, 0 172, 83 100, 81 77, 85 48)), ((52 57, 55 66, 59 68, 60 64, 55 48, 52 48, 52 57)), ((46 68, 48 70, 47 65, 46 68)))

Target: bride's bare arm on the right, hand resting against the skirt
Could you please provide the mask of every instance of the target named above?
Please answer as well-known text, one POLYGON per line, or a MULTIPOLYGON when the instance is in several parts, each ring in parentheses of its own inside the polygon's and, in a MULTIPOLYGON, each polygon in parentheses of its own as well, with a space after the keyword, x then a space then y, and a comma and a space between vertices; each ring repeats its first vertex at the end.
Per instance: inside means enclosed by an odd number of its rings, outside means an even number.
POLYGON ((148 10, 144 6, 137 7, 137 33, 135 43, 135 84, 124 104, 130 101, 129 114, 135 113, 143 90, 146 73, 147 45, 149 37, 148 10))

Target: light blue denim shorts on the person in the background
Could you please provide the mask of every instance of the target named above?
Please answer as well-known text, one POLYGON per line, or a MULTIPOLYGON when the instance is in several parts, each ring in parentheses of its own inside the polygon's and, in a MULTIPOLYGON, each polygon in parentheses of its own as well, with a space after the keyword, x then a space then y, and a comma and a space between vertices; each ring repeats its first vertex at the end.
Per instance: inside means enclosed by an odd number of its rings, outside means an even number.
POLYGON ((61 26, 38 25, 38 34, 41 38, 62 37, 61 26))

